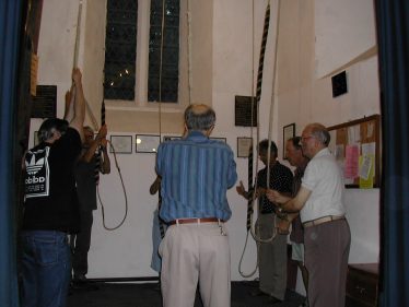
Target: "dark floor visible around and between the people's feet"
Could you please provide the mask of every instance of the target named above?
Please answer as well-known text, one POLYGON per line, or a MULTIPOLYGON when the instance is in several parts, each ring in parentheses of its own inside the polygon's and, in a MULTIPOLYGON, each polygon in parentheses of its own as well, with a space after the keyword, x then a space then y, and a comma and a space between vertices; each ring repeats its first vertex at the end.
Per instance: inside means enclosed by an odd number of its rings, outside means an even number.
MULTIPOLYGON (((271 304, 268 297, 253 297, 250 291, 257 282, 232 282, 231 307, 299 307, 304 297, 288 291, 285 302, 271 304)), ((73 288, 68 307, 161 307, 162 297, 156 283, 92 283, 86 287, 73 288)), ((195 307, 202 307, 199 296, 195 307)))

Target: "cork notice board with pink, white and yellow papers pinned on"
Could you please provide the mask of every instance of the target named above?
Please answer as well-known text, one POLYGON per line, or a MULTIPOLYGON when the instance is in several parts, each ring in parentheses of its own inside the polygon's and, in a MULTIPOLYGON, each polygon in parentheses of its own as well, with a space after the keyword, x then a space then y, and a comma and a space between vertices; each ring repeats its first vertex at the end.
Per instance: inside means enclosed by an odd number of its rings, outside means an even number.
POLYGON ((342 168, 347 188, 379 187, 379 115, 373 115, 327 128, 329 149, 342 168))

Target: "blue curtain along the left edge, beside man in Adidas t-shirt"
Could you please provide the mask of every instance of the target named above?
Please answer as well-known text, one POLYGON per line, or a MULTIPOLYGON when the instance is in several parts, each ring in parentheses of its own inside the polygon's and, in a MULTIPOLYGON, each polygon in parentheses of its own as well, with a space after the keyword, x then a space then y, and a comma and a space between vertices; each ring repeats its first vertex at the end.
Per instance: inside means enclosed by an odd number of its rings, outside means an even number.
POLYGON ((14 180, 14 114, 21 0, 0 1, 0 306, 19 306, 14 180))

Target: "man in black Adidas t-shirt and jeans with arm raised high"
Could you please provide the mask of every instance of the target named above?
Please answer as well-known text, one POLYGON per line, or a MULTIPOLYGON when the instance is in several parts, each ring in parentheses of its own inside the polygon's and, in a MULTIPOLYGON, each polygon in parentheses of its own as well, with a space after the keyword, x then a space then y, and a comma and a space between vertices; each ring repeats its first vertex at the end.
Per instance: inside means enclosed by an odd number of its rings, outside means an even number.
POLYGON ((85 99, 82 74, 72 72, 65 119, 47 119, 40 143, 24 157, 22 307, 65 307, 70 282, 68 234, 79 231, 73 164, 81 152, 85 99))

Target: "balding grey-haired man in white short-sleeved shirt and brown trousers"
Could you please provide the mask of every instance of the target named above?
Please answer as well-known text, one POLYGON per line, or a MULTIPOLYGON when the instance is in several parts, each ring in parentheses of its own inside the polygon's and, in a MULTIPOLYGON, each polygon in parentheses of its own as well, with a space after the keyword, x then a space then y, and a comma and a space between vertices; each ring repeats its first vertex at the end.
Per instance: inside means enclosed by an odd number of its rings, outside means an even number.
POLYGON ((302 133, 303 153, 311 161, 294 198, 269 190, 267 197, 287 212, 300 211, 304 226, 308 302, 312 307, 344 307, 351 233, 344 217, 343 180, 328 150, 330 135, 320 123, 302 133))

